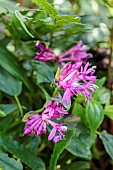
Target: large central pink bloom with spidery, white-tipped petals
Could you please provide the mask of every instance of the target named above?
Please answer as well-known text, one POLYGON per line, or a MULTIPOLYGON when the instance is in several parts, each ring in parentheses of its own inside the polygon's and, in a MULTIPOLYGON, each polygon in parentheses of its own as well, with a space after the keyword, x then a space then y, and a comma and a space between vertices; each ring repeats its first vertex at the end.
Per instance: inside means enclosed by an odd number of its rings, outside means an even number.
POLYGON ((63 101, 70 103, 73 95, 83 95, 85 100, 92 100, 92 94, 96 91, 96 77, 93 76, 94 67, 89 68, 89 63, 83 67, 82 62, 77 64, 67 63, 57 79, 60 89, 64 90, 63 101))

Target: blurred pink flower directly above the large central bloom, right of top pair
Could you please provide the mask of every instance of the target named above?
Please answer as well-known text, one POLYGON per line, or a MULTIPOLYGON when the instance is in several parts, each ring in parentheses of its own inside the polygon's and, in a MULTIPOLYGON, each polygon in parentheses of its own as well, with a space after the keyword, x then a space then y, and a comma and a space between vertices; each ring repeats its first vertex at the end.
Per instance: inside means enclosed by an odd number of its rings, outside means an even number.
POLYGON ((58 62, 62 65, 65 64, 65 62, 73 61, 73 62, 86 62, 88 58, 92 58, 92 54, 87 53, 86 49, 82 46, 82 41, 79 41, 77 45, 70 48, 66 52, 62 52, 58 58, 58 62))

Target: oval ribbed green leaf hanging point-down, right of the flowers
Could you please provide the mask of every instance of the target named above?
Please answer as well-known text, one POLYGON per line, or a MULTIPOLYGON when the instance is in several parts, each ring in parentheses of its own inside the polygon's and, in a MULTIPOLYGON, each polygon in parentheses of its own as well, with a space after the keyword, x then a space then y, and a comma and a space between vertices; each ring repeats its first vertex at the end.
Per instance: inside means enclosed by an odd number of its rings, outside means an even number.
POLYGON ((86 120, 91 130, 91 135, 99 128, 104 119, 104 111, 102 105, 96 101, 87 102, 86 104, 86 120))

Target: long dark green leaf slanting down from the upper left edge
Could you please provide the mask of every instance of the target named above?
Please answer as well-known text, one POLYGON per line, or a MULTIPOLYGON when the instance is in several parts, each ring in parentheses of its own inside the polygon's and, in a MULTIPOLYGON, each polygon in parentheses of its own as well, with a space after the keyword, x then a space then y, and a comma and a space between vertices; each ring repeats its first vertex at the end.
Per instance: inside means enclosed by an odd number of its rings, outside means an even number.
POLYGON ((20 65, 16 57, 2 45, 0 46, 0 65, 10 74, 21 80, 33 92, 32 85, 27 78, 26 70, 20 65))

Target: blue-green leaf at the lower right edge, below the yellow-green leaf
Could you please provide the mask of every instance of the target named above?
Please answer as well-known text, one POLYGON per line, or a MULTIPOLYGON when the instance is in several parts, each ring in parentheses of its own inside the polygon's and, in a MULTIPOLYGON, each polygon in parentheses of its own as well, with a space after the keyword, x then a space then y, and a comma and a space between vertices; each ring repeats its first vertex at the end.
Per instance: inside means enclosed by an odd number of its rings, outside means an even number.
POLYGON ((103 142, 106 152, 109 154, 111 159, 113 159, 113 135, 104 130, 102 131, 100 138, 103 142))

